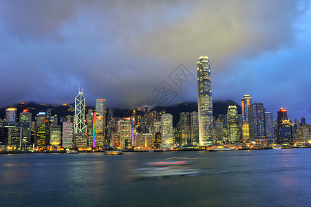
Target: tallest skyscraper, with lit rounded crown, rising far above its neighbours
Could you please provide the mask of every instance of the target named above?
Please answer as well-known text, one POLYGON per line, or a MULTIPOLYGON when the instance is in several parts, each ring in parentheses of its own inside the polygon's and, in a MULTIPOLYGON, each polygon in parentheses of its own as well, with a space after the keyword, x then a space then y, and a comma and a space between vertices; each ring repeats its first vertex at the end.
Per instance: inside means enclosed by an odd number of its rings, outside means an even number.
POLYGON ((197 103, 200 146, 213 144, 212 84, 207 56, 201 56, 197 61, 197 103))

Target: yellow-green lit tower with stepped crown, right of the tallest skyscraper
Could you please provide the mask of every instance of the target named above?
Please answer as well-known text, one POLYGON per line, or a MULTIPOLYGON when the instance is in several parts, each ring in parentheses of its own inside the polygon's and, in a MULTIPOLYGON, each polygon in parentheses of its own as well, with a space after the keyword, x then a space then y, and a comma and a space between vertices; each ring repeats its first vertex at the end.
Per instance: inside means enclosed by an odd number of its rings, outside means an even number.
POLYGON ((228 106, 228 141, 239 141, 237 106, 228 106))

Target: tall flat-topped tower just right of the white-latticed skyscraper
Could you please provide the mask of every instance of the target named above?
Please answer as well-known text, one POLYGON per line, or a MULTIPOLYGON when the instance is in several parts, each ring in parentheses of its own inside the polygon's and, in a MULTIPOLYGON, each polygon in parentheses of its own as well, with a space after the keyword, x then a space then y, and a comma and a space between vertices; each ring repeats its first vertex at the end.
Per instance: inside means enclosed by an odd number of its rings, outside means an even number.
POLYGON ((106 137, 106 100, 95 99, 95 146, 103 146, 106 137))

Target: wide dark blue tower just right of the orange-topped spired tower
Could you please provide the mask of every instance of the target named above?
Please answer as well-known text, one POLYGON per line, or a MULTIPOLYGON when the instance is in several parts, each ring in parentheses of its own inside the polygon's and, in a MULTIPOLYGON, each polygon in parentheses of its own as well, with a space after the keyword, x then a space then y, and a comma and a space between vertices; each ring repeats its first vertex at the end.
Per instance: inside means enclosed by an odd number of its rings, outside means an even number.
POLYGON ((263 103, 253 103, 248 106, 248 124, 250 128, 250 138, 265 138, 265 111, 263 103))

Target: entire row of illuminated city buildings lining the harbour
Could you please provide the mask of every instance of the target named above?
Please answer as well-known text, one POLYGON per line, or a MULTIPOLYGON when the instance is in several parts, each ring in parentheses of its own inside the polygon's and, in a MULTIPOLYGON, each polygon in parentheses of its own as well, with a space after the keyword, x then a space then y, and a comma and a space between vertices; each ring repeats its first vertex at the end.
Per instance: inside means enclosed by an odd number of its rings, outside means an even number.
POLYGON ((85 110, 83 90, 74 101, 74 115, 52 116, 51 110, 32 115, 28 109, 17 115, 7 108, 0 122, 0 150, 103 150, 123 148, 193 148, 213 144, 293 145, 311 140, 311 127, 294 119, 281 108, 274 121, 263 103, 242 97, 242 114, 228 106, 225 115, 213 117, 211 69, 208 57, 197 61, 198 110, 181 112, 177 126, 164 110, 136 108, 130 117, 114 117, 106 111, 106 100, 96 99, 95 110, 85 110))

